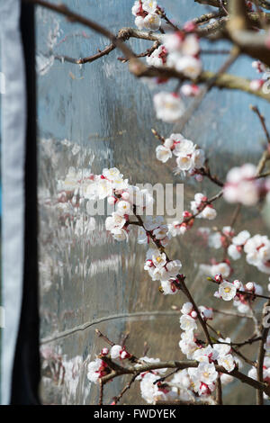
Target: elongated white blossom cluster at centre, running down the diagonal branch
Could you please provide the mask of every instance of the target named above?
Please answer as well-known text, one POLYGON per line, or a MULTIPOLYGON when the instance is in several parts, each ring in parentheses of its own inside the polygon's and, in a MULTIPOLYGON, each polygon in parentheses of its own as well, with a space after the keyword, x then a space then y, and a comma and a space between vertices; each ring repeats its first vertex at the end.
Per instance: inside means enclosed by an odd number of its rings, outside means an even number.
MULTIPOLYGON (((112 215, 105 220, 106 230, 110 231, 117 241, 128 239, 130 224, 133 223, 130 217, 142 214, 145 208, 153 203, 152 195, 148 190, 130 185, 116 167, 103 169, 102 175, 93 175, 91 181, 85 190, 87 198, 107 198, 107 202, 115 208, 112 215)), ((148 249, 144 268, 153 281, 160 281, 165 294, 177 292, 176 276, 182 267, 180 260, 169 260, 163 252, 170 238, 169 228, 163 224, 161 216, 147 216, 139 226, 139 244, 148 244, 151 239, 156 245, 155 248, 148 249)))

